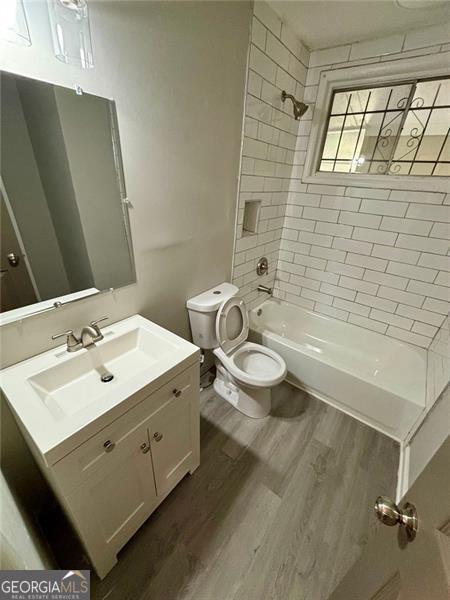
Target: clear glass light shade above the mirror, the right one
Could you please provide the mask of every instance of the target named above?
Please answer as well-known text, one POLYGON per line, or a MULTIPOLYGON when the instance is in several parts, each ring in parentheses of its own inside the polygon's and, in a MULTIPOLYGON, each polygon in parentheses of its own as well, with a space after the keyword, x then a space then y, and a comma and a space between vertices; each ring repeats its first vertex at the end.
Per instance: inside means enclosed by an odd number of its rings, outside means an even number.
POLYGON ((47 0, 47 6, 56 58, 91 69, 94 58, 86 0, 47 0))

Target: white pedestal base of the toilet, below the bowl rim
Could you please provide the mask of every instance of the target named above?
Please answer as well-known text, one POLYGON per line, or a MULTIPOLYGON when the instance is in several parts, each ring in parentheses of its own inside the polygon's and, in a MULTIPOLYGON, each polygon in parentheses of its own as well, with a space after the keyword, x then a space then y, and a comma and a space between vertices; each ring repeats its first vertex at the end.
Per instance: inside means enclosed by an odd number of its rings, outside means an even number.
POLYGON ((217 364, 214 391, 234 408, 252 419, 267 417, 271 409, 269 388, 251 388, 233 379, 228 371, 217 364))

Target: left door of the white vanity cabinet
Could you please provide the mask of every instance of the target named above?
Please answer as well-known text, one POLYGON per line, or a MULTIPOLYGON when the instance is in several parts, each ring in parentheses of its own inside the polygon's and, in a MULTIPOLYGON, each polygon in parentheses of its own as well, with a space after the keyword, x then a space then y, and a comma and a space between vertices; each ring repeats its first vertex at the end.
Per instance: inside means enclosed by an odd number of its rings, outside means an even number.
POLYGON ((148 424, 146 419, 113 442, 111 460, 69 498, 76 525, 91 549, 115 554, 158 502, 148 424))

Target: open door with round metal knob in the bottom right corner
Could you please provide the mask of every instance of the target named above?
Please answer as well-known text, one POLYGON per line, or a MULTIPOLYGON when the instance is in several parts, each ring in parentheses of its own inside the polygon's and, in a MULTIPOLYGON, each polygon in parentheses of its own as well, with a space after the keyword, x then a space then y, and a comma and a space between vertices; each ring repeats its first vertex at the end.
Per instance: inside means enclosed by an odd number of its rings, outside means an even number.
POLYGON ((416 507, 418 529, 380 523, 375 538, 329 600, 448 600, 450 583, 450 438, 399 506, 416 507))

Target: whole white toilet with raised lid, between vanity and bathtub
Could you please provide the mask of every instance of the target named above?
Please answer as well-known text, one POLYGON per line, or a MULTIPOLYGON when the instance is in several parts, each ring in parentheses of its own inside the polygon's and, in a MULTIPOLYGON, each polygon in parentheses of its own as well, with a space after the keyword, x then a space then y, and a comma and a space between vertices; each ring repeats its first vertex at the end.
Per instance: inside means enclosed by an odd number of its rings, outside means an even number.
POLYGON ((271 388, 286 377, 286 363, 273 350, 247 341, 245 302, 231 283, 187 301, 194 344, 216 357, 216 393, 248 417, 266 417, 271 388))

